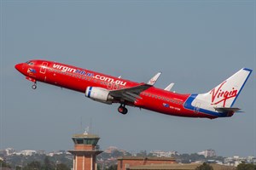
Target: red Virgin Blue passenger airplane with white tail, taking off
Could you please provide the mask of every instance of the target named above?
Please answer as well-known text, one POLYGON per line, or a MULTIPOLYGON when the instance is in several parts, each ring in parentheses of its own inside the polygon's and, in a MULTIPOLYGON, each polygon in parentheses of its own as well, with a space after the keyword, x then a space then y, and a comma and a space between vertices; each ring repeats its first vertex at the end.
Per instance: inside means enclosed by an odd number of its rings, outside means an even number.
POLYGON ((230 117, 240 111, 233 105, 253 71, 242 68, 204 94, 177 94, 171 91, 173 82, 165 89, 154 87, 161 72, 148 82, 139 83, 42 59, 17 64, 15 69, 33 82, 33 89, 37 88, 37 82, 68 88, 104 104, 119 103, 118 111, 124 115, 129 105, 171 116, 210 119, 230 117))

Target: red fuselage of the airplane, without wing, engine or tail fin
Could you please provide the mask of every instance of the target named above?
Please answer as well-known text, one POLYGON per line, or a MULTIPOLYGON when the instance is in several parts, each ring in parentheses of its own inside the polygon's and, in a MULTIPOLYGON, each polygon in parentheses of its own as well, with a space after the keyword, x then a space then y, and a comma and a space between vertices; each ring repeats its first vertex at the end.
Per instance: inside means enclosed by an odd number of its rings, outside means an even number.
MULTIPOLYGON (((15 68, 32 82, 49 83, 83 94, 88 87, 105 88, 108 91, 115 91, 143 84, 47 60, 31 60, 15 65, 15 68)), ((199 110, 187 109, 185 106, 187 105, 186 101, 191 96, 190 94, 176 94, 152 86, 143 90, 138 95, 140 98, 137 98, 134 102, 124 99, 113 99, 112 103, 136 106, 172 116, 207 117, 211 119, 218 117, 199 110)))

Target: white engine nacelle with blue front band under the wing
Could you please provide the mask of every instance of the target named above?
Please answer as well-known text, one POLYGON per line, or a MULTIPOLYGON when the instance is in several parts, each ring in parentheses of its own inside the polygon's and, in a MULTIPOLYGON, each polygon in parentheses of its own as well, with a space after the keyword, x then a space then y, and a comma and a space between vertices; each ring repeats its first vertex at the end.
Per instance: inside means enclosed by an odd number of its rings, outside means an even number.
POLYGON ((85 96, 109 105, 113 101, 113 97, 109 95, 109 91, 105 88, 88 87, 85 90, 85 96))

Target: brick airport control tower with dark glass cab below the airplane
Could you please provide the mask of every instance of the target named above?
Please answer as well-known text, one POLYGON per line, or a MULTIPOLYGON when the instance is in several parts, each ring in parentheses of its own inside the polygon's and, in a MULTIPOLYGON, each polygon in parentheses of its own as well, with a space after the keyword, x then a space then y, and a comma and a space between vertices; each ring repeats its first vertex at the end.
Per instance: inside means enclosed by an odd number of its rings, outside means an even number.
POLYGON ((73 154, 73 170, 96 170, 96 156, 102 153, 99 150, 99 136, 86 131, 83 134, 75 134, 72 137, 74 150, 68 150, 73 154))

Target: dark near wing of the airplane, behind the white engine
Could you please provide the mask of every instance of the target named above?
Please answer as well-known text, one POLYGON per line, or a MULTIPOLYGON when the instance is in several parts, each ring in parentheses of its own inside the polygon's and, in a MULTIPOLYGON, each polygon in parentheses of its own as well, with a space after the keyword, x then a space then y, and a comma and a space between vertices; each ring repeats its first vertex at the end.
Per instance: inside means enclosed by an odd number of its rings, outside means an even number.
POLYGON ((132 88, 124 88, 120 90, 112 90, 109 92, 111 96, 113 96, 114 99, 118 99, 119 101, 130 101, 135 102, 136 99, 142 99, 139 94, 142 93, 144 90, 152 87, 152 85, 149 84, 141 84, 136 87, 132 88))

